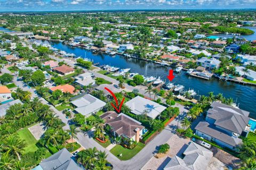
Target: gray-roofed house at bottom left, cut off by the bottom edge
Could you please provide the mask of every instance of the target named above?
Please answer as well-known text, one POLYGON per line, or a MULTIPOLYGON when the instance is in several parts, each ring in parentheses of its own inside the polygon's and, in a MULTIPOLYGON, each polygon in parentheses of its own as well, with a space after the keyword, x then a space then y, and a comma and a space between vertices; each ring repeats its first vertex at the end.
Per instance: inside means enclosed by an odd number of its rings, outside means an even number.
POLYGON ((63 148, 52 156, 44 159, 37 167, 32 170, 83 170, 74 159, 70 152, 63 148))

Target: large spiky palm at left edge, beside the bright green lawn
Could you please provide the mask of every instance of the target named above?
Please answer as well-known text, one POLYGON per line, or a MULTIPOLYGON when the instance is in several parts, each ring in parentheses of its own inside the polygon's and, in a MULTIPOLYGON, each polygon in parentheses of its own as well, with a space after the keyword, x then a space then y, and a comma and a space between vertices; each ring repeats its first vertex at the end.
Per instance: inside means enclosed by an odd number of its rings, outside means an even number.
POLYGON ((10 135, 3 141, 1 150, 5 151, 6 154, 15 154, 19 160, 20 154, 24 151, 26 143, 24 140, 20 140, 17 135, 10 135))

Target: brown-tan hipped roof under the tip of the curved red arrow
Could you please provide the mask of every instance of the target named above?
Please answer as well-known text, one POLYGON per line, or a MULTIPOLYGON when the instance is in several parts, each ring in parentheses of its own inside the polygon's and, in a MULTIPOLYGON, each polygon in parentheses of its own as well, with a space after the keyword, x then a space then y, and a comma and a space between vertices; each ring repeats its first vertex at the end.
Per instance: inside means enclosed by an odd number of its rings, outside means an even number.
POLYGON ((126 137, 132 138, 136 132, 135 129, 144 129, 145 127, 135 122, 131 117, 124 114, 117 114, 116 112, 110 111, 100 116, 105 123, 110 125, 113 130, 118 134, 124 134, 126 137))

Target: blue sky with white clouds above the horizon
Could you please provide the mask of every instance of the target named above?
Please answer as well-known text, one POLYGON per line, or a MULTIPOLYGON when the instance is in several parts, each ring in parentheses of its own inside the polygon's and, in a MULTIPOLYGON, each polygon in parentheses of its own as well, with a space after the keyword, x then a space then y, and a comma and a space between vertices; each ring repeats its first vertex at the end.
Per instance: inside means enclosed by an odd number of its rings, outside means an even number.
POLYGON ((256 0, 0 0, 0 11, 256 8, 256 0))

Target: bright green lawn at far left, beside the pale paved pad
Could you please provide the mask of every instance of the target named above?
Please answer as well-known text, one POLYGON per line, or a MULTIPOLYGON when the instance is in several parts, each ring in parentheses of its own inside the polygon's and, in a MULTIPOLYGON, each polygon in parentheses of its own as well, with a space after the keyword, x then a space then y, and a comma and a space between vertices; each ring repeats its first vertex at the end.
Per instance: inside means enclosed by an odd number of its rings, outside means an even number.
POLYGON ((28 128, 24 128, 17 132, 21 140, 25 140, 27 146, 25 147, 25 153, 27 152, 35 152, 38 148, 36 146, 36 139, 34 138, 33 134, 30 133, 28 128))

